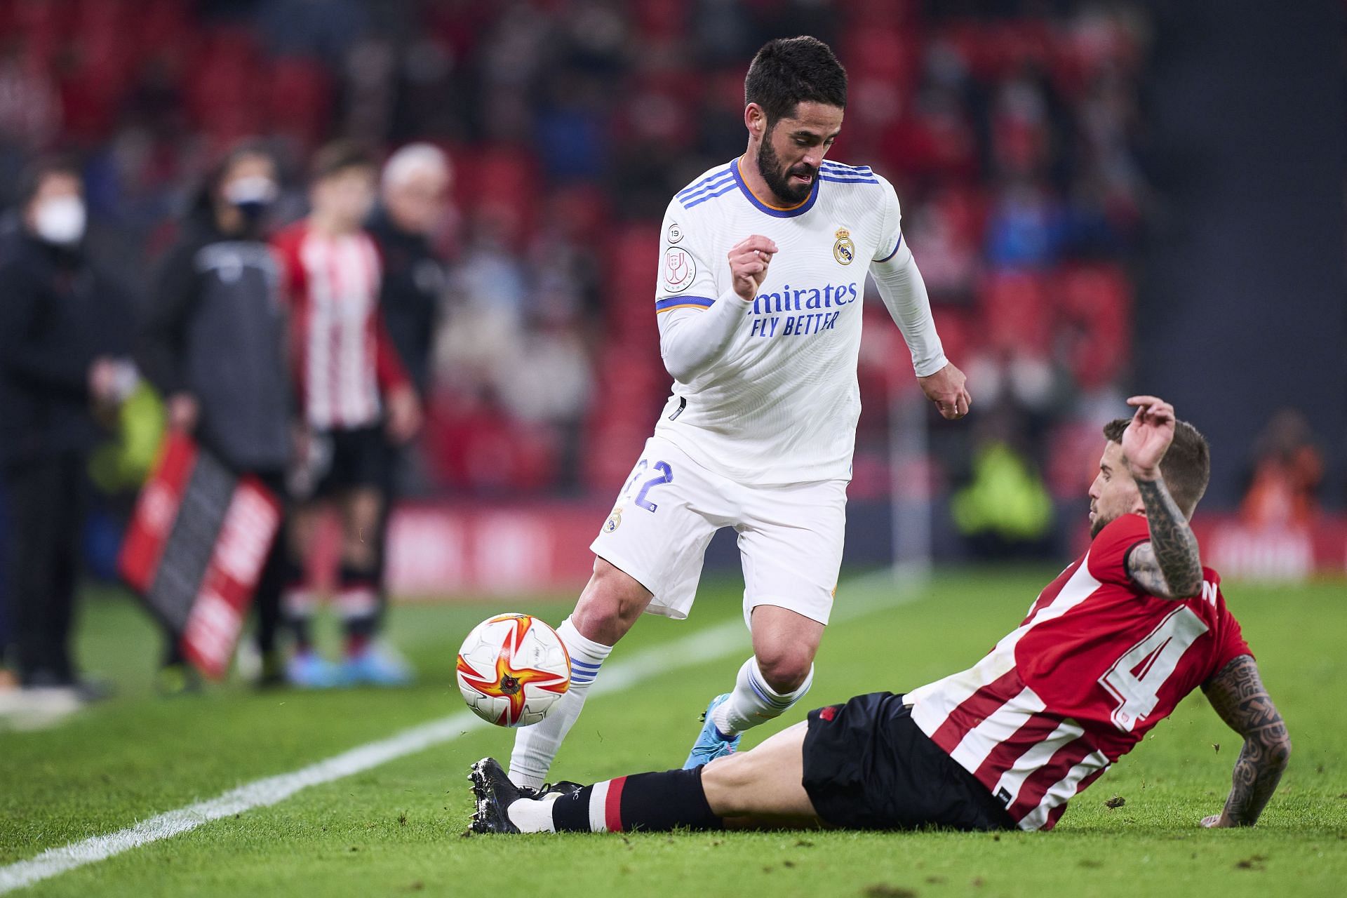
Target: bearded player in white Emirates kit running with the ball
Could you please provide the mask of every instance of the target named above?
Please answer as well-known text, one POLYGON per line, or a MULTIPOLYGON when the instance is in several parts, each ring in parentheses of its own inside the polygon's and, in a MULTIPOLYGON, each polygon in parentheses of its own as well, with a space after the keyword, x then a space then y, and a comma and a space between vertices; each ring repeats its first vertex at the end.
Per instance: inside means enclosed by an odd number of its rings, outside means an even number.
POLYGON ((674 392, 601 528, 594 576, 558 633, 571 687, 515 738, 509 777, 537 789, 612 646, 643 611, 686 618, 703 555, 738 532, 753 657, 687 758, 729 754, 808 691, 842 563, 861 412, 857 355, 872 273, 947 419, 967 415, 902 240, 893 187, 826 162, 846 71, 815 38, 772 40, 745 78, 748 151, 696 178, 663 223, 655 312, 674 392))

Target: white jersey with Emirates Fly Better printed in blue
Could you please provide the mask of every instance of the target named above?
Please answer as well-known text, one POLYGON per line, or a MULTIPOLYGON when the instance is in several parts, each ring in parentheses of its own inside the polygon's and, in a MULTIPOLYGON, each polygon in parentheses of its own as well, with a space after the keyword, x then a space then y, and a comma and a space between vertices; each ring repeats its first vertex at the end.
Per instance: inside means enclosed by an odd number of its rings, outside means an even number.
POLYGON ((725 354, 675 380, 656 436, 741 483, 850 478, 865 276, 872 261, 907 253, 900 218, 888 180, 834 162, 789 209, 754 197, 738 160, 675 195, 655 291, 661 333, 667 318, 700 314, 733 289, 731 246, 762 234, 779 252, 725 354))

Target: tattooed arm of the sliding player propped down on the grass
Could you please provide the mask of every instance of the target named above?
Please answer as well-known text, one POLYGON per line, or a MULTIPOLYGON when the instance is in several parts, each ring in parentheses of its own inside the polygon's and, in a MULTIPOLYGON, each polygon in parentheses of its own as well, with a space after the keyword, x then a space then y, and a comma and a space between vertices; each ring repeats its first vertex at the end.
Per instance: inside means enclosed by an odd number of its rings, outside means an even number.
POLYGON ((1202 691, 1220 719, 1245 738, 1226 808, 1203 820, 1202 825, 1251 827, 1277 789, 1290 758, 1286 724, 1258 677, 1258 665, 1247 654, 1241 654, 1203 683, 1202 691))

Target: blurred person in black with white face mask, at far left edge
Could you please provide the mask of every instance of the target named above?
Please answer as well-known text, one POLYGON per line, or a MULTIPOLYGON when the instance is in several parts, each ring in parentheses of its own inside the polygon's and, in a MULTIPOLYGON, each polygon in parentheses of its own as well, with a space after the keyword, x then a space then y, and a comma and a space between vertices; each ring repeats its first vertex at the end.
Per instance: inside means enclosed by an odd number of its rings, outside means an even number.
POLYGON ((8 494, 8 625, 23 687, 12 697, 59 714, 100 697, 70 657, 86 464, 136 386, 123 339, 129 304, 84 252, 78 168, 24 175, 0 246, 0 470, 8 494))

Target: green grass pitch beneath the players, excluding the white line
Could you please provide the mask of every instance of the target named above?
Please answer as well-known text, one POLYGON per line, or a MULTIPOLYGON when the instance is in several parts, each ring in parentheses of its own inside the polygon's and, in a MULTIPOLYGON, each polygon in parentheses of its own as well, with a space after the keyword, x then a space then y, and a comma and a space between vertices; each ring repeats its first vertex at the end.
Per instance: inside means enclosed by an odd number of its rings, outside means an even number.
MULTIPOLYGON (((1018 623, 1052 574, 943 574, 905 605, 835 623, 804 704, 902 691, 970 666, 1018 623)), ((1340 582, 1227 587, 1294 742, 1290 769, 1254 829, 1197 827, 1220 809, 1239 750, 1200 695, 1078 797, 1051 833, 462 837, 467 765, 509 754, 511 732, 482 728, 16 894, 1344 895, 1347 590, 1340 582), (1106 806, 1115 796, 1125 804, 1106 806)), ((610 664, 737 618, 738 591, 733 582, 707 583, 690 621, 643 621, 610 664)), ((843 582, 838 606, 882 603, 888 594, 874 579, 843 582)), ((568 610, 568 599, 508 605, 552 623, 568 610)), ((0 866, 462 710, 457 644, 501 610, 500 602, 395 609, 392 638, 422 672, 412 689, 256 693, 230 684, 163 700, 151 691, 159 645, 144 614, 120 596, 90 602, 81 654, 123 691, 58 728, 0 732, 0 866)), ((678 766, 698 714, 745 653, 593 697, 554 775, 593 781, 678 766)), ((745 746, 804 711, 753 731, 745 746)))

